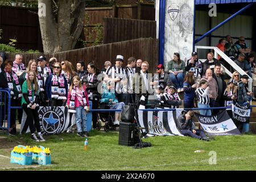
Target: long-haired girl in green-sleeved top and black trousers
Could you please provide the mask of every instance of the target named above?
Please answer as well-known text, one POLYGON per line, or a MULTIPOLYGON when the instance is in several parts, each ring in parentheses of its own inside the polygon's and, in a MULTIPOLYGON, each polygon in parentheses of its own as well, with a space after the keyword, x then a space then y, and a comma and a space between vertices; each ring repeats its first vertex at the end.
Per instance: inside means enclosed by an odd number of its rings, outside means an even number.
MULTIPOLYGON (((30 128, 31 139, 36 142, 45 141, 40 129, 38 104, 39 104, 39 85, 37 84, 36 72, 28 71, 27 79, 22 84, 22 108, 27 114, 27 119, 23 129, 30 128), (34 124, 35 123, 35 124, 34 124), (35 135, 38 131, 38 137, 35 135)), ((22 131, 22 134, 26 131, 22 131)))

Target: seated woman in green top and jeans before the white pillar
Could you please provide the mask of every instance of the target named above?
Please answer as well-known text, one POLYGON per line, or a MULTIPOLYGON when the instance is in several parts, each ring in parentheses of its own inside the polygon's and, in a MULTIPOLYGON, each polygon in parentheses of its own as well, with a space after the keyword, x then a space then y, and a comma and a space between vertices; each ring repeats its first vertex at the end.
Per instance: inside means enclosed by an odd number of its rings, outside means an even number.
POLYGON ((177 88, 177 92, 183 92, 183 80, 185 73, 185 63, 180 59, 180 54, 175 52, 174 59, 167 64, 167 70, 170 73, 172 82, 177 88))

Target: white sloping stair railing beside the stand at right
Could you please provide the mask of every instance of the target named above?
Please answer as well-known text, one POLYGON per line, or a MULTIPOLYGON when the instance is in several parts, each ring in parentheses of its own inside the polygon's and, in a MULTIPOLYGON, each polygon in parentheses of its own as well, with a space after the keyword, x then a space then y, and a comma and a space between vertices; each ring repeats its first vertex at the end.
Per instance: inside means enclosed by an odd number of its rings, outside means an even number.
MULTIPOLYGON (((242 68, 240 68, 232 59, 230 59, 224 52, 222 52, 219 48, 217 47, 210 47, 210 46, 195 46, 195 51, 197 52, 197 49, 213 49, 214 50, 214 58, 218 59, 218 55, 220 55, 227 63, 229 63, 232 68, 234 68, 240 75, 247 75, 249 76, 245 71, 243 71, 242 68)), ((224 67, 224 65, 221 64, 221 66, 225 69, 225 72, 232 77, 232 73, 224 67)), ((249 86, 249 91, 253 90, 253 79, 249 76, 248 79, 248 86, 249 86)))

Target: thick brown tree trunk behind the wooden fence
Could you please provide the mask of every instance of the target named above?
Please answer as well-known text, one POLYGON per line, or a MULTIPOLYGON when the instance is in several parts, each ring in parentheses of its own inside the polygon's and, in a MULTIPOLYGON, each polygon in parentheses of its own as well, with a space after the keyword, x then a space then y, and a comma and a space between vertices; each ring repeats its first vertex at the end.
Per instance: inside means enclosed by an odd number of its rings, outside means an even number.
POLYGON ((73 49, 84 26, 85 1, 59 0, 55 2, 38 0, 44 53, 73 49), (55 5, 57 5, 56 15, 52 8, 55 5))

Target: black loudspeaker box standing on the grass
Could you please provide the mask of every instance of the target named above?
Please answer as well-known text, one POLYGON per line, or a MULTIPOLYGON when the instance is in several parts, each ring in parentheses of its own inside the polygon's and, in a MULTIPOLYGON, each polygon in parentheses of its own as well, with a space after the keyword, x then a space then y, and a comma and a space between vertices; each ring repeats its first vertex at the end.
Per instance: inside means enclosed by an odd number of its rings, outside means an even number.
POLYGON ((135 124, 120 122, 118 144, 121 146, 134 146, 135 124))

